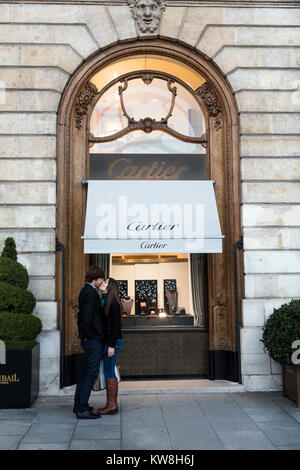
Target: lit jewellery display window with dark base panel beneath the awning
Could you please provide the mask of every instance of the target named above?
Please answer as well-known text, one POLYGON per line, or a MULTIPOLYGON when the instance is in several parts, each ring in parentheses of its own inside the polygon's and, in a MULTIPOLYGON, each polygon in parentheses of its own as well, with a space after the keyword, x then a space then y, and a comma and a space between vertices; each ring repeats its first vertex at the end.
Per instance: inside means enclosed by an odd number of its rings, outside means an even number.
MULTIPOLYGON (((122 375, 207 377, 207 305, 195 304, 194 309, 191 276, 196 273, 191 271, 190 255, 111 258, 111 276, 120 279, 123 305, 126 348, 119 356, 122 375)), ((202 292, 197 289, 196 295, 201 297, 206 286, 198 281, 202 292)))

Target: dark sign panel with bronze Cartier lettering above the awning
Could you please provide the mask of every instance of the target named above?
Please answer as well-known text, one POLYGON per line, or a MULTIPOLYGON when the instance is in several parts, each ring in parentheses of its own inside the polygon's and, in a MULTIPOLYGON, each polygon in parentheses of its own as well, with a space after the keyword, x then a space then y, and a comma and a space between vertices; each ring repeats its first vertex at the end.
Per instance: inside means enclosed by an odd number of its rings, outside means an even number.
POLYGON ((205 180, 203 154, 90 154, 91 180, 205 180))

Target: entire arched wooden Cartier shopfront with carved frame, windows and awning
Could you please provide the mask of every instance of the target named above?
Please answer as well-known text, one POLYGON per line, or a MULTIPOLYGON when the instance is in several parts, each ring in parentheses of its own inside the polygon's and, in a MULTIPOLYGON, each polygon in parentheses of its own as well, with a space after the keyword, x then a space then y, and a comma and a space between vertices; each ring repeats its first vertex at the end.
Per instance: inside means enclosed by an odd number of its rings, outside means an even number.
POLYGON ((191 50, 148 40, 96 54, 69 83, 59 115, 64 385, 76 381, 77 294, 94 263, 119 282, 123 377, 239 380, 236 112, 219 79, 191 50))

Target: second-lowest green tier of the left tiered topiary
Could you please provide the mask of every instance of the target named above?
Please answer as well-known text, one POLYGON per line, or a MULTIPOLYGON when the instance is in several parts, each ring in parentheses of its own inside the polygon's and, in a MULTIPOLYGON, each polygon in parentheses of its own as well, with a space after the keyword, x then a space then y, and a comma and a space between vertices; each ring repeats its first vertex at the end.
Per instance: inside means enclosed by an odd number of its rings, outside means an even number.
POLYGON ((0 312, 29 314, 35 305, 35 297, 30 291, 0 282, 0 312))

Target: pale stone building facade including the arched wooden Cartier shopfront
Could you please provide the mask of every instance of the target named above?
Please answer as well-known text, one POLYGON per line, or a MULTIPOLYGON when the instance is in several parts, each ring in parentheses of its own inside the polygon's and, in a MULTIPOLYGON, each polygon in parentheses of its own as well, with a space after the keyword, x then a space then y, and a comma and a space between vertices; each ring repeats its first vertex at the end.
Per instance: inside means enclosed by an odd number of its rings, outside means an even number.
POLYGON ((260 339, 300 298, 299 2, 0 11, 0 250, 36 298, 40 393, 76 383, 91 263, 119 282, 123 378, 281 390, 260 339))

